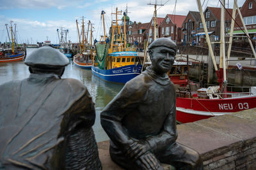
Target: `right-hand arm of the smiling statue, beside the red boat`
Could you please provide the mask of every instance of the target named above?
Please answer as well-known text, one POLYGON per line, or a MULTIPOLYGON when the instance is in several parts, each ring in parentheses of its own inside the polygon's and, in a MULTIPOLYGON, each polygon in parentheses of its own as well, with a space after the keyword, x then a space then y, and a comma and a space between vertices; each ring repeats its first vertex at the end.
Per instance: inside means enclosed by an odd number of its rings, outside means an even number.
MULTIPOLYGON (((172 92, 172 95, 175 96, 174 90, 172 92)), ((175 97, 173 97, 172 107, 164 122, 163 132, 156 136, 148 137, 147 141, 150 145, 152 152, 156 152, 170 146, 176 141, 176 139, 176 99, 175 97)))

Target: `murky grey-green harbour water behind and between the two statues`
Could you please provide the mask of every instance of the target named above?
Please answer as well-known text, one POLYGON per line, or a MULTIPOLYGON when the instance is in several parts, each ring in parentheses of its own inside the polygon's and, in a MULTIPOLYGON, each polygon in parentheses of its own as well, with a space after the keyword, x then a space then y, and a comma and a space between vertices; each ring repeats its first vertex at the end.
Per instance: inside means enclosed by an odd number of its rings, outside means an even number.
MULTIPOLYGON (((27 48, 27 55, 36 48, 27 48)), ((12 80, 22 80, 29 76, 28 66, 23 61, 0 63, 0 84, 12 80)), ((62 78, 76 78, 80 80, 90 92, 95 103, 96 119, 93 130, 97 141, 104 141, 108 136, 100 125, 100 111, 118 94, 124 85, 100 80, 91 70, 76 67, 72 60, 65 68, 62 78)))

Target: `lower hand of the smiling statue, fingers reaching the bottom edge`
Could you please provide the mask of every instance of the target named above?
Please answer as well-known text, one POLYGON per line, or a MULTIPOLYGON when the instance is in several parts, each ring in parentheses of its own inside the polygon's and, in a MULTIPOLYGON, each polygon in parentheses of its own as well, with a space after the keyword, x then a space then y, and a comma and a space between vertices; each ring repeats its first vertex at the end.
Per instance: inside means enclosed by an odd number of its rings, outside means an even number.
POLYGON ((145 153, 138 160, 136 160, 137 165, 143 170, 163 170, 158 159, 151 152, 145 153))

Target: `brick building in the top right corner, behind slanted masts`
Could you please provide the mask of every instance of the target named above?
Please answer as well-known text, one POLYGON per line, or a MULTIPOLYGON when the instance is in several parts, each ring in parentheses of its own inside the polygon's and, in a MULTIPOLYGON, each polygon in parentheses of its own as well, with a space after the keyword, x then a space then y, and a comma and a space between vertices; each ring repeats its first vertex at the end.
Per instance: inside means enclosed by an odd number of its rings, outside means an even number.
MULTIPOLYGON (((256 1, 246 0, 240 11, 250 38, 256 39, 256 1)), ((244 34, 244 27, 239 15, 236 16, 236 22, 238 25, 235 23, 234 34, 244 34), (243 29, 244 32, 240 29, 239 26, 241 29, 243 29)))

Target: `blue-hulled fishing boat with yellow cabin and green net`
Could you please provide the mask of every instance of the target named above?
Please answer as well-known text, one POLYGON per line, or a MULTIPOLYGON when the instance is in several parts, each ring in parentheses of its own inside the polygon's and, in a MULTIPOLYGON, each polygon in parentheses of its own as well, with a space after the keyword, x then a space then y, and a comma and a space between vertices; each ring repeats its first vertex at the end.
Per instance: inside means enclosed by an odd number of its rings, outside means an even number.
POLYGON ((92 73, 105 81, 114 83, 126 83, 141 73, 142 65, 138 60, 136 48, 127 47, 125 33, 125 15, 124 13, 124 34, 122 34, 121 25, 118 24, 118 15, 122 11, 116 8, 115 21, 111 22, 110 41, 105 34, 104 11, 102 11, 102 20, 104 27, 104 41, 96 43, 95 58, 97 62, 93 63, 92 73))

